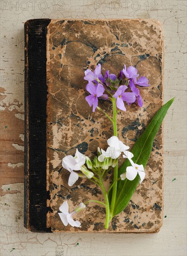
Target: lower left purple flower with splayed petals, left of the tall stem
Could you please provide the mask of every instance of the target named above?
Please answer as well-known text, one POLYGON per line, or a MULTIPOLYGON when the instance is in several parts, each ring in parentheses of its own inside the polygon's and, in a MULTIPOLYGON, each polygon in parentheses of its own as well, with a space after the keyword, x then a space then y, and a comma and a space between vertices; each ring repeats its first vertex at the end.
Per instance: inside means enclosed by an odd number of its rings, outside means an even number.
POLYGON ((85 99, 90 107, 93 105, 93 112, 95 112, 95 108, 98 106, 98 98, 103 95, 105 89, 102 84, 97 84, 94 86, 93 82, 91 81, 88 82, 86 89, 91 95, 88 95, 85 99))

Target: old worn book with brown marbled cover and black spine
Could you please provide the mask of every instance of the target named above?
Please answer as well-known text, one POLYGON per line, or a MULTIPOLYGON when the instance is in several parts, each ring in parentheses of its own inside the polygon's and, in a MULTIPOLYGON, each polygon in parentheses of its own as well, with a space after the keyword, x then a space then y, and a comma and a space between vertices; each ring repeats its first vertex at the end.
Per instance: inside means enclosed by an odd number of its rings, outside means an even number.
MULTIPOLYGON (((113 135, 107 118, 92 112, 84 71, 98 63, 102 71, 118 74, 134 65, 147 76, 140 88, 143 108, 128 106, 118 115, 120 140, 133 147, 163 101, 163 32, 157 20, 28 20, 25 23, 25 219, 35 232, 158 232, 163 213, 163 132, 157 134, 146 167, 127 208, 104 229, 105 209, 90 203, 78 214, 81 228, 65 227, 58 215, 68 201, 103 200, 102 192, 87 179, 69 187, 65 155, 93 157, 113 135)), ((99 103, 107 112, 110 104, 99 103)), ((106 180, 106 186, 110 180, 106 180)))

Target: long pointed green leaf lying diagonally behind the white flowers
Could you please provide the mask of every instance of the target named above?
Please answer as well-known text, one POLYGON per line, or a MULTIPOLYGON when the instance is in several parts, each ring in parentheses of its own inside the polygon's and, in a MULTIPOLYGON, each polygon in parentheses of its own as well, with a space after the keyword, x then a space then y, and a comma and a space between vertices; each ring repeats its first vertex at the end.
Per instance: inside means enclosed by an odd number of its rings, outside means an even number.
MULTIPOLYGON (((131 152, 134 154, 132 160, 137 164, 143 164, 144 168, 148 162, 151 150, 153 148, 154 137, 156 136, 160 128, 160 125, 167 113, 167 110, 171 106, 173 101, 174 98, 168 101, 158 110, 158 112, 154 115, 153 119, 147 126, 144 133, 140 135, 140 137, 134 144, 133 149, 131 150, 131 152)), ((123 164, 120 166, 118 170, 119 177, 120 174, 126 172, 127 166, 130 165, 131 164, 128 159, 125 162, 123 162, 123 164)), ((127 179, 125 179, 125 181, 119 180, 113 216, 116 216, 127 207, 128 202, 130 201, 132 195, 134 194, 134 191, 136 190, 139 182, 139 175, 137 175, 133 181, 129 181, 127 179)))

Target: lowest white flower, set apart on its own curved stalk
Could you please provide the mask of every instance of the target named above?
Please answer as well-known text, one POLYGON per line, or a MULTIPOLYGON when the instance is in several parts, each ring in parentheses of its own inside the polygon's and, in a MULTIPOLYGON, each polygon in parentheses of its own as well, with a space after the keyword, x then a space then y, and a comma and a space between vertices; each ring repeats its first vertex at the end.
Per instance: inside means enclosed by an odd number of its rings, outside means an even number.
POLYGON ((81 228, 81 223, 79 221, 74 221, 73 215, 75 215, 85 207, 86 205, 81 202, 79 206, 76 209, 74 209, 74 211, 69 213, 69 206, 67 204, 67 201, 63 202, 63 204, 59 208, 59 210, 61 211, 61 213, 59 213, 59 216, 63 224, 67 226, 69 223, 72 227, 81 228))

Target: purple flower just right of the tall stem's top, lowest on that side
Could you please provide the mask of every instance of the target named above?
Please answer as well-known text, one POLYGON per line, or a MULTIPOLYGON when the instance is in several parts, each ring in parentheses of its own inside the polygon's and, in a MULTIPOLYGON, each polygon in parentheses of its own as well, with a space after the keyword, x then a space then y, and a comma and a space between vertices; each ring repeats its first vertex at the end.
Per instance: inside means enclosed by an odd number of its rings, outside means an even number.
POLYGON ((123 111, 126 111, 124 101, 127 103, 136 101, 136 95, 134 93, 125 93, 126 89, 126 85, 121 85, 113 95, 113 97, 116 98, 116 106, 123 111))

